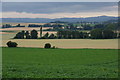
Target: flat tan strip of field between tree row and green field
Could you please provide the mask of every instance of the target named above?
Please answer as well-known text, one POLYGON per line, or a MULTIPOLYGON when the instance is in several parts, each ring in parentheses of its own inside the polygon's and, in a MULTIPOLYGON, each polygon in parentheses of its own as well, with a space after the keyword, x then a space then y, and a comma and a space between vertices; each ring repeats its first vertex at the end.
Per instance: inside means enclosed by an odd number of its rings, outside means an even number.
POLYGON ((99 49, 118 49, 117 39, 108 40, 91 40, 91 39, 9 39, 3 40, 2 46, 6 46, 8 41, 15 41, 18 47, 40 47, 43 48, 45 43, 51 43, 58 48, 99 48, 99 49))

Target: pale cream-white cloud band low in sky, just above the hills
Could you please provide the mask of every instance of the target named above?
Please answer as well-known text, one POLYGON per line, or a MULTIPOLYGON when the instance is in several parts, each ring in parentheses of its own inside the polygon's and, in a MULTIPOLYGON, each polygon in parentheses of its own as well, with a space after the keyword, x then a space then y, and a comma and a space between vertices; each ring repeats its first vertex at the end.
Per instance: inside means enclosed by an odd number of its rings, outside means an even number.
POLYGON ((33 13, 26 13, 26 12, 3 12, 3 18, 63 18, 63 17, 70 17, 70 18, 79 18, 79 17, 95 17, 95 16, 117 16, 117 12, 81 12, 81 13, 53 13, 53 14, 33 14, 33 13))

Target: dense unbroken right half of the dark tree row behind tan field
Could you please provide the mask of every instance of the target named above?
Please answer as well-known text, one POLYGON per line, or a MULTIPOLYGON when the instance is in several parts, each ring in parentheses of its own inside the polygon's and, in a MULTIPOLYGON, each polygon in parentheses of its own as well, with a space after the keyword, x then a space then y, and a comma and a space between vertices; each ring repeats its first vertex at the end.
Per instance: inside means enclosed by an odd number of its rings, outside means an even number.
POLYGON ((59 39, 113 39, 120 38, 120 33, 108 29, 93 29, 90 32, 58 31, 59 39))

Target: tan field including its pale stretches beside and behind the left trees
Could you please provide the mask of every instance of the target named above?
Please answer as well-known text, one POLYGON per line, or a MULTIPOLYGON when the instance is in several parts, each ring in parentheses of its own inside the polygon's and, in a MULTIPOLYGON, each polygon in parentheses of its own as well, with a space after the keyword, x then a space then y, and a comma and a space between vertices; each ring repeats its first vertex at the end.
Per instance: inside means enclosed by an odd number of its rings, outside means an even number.
MULTIPOLYGON (((52 46, 58 48, 100 48, 100 49, 118 49, 118 39, 12 39, 18 31, 21 30, 32 30, 33 28, 7 28, 0 29, 2 37, 2 44, 0 46, 5 46, 8 41, 15 41, 18 43, 18 47, 40 47, 43 48, 45 43, 51 43, 52 46), (16 32, 9 32, 16 31, 16 32)), ((39 30, 39 28, 34 28, 39 30)), ((43 32, 43 35, 47 31, 43 32)), ((56 32, 51 31, 49 34, 56 32)), ((38 32, 39 37, 39 32, 38 32)))

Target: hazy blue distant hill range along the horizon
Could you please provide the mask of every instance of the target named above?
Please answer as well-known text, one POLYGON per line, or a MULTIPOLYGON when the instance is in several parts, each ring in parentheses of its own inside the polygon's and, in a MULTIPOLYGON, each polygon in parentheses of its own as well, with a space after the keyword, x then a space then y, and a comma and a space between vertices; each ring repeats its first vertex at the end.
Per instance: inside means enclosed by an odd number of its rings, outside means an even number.
MULTIPOLYGON (((87 17, 87 18, 2 18, 2 22, 14 22, 14 23, 50 23, 54 21, 63 21, 63 22, 104 22, 109 20, 117 20, 118 17, 112 16, 97 16, 97 17, 87 17)), ((1 20, 1 19, 0 19, 1 20)))

